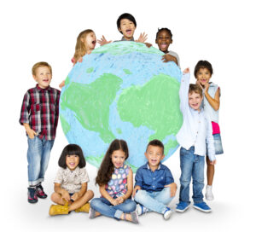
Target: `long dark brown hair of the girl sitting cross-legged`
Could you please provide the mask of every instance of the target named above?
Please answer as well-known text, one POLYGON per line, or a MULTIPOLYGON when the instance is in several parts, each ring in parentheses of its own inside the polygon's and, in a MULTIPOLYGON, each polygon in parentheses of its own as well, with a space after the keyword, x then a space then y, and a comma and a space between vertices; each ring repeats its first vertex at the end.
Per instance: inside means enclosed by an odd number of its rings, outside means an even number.
POLYGON ((127 143, 124 140, 115 139, 113 142, 111 142, 107 153, 105 154, 102 165, 100 166, 100 169, 98 171, 97 177, 96 177, 96 183, 100 186, 107 184, 109 180, 111 179, 114 166, 111 160, 111 155, 114 151, 122 150, 125 153, 125 159, 129 157, 129 150, 127 143))

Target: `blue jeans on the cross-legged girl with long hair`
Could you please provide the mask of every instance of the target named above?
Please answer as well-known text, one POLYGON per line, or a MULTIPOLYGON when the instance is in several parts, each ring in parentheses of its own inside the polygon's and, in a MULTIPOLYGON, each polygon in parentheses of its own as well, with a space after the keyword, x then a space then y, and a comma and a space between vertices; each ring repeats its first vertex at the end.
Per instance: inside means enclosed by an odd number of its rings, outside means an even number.
POLYGON ((134 212, 136 210, 136 203, 131 199, 126 199, 122 204, 113 206, 106 198, 94 198, 90 201, 90 207, 96 212, 100 212, 107 217, 118 219, 123 212, 134 212))

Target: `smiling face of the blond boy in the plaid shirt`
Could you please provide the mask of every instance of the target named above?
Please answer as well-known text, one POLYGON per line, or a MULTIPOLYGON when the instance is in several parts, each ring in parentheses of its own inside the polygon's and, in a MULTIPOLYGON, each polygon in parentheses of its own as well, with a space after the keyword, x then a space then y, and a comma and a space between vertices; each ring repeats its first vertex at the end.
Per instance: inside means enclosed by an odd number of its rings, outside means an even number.
POLYGON ((38 86, 40 88, 46 89, 50 84, 52 74, 49 67, 42 66, 37 68, 36 74, 33 75, 33 78, 38 82, 38 86))

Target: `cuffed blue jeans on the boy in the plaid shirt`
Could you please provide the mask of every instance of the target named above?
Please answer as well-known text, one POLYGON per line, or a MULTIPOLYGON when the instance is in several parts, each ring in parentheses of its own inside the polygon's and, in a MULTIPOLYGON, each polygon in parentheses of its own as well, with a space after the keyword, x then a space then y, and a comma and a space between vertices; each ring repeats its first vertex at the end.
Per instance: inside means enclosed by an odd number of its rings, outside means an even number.
POLYGON ((49 163, 50 150, 54 140, 40 139, 38 136, 30 138, 27 136, 27 171, 28 184, 36 185, 44 181, 44 174, 49 163))

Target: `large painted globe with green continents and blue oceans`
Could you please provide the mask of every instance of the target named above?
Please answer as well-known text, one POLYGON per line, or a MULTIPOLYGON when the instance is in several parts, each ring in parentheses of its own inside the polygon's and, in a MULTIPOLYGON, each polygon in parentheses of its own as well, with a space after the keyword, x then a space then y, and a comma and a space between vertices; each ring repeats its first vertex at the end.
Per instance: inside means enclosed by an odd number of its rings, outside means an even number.
POLYGON ((161 55, 144 44, 116 42, 85 55, 68 74, 61 90, 62 129, 91 165, 101 165, 115 138, 127 142, 126 163, 133 171, 146 163, 144 152, 152 139, 164 143, 165 159, 176 151, 183 123, 182 73, 173 62, 163 63, 161 55))

